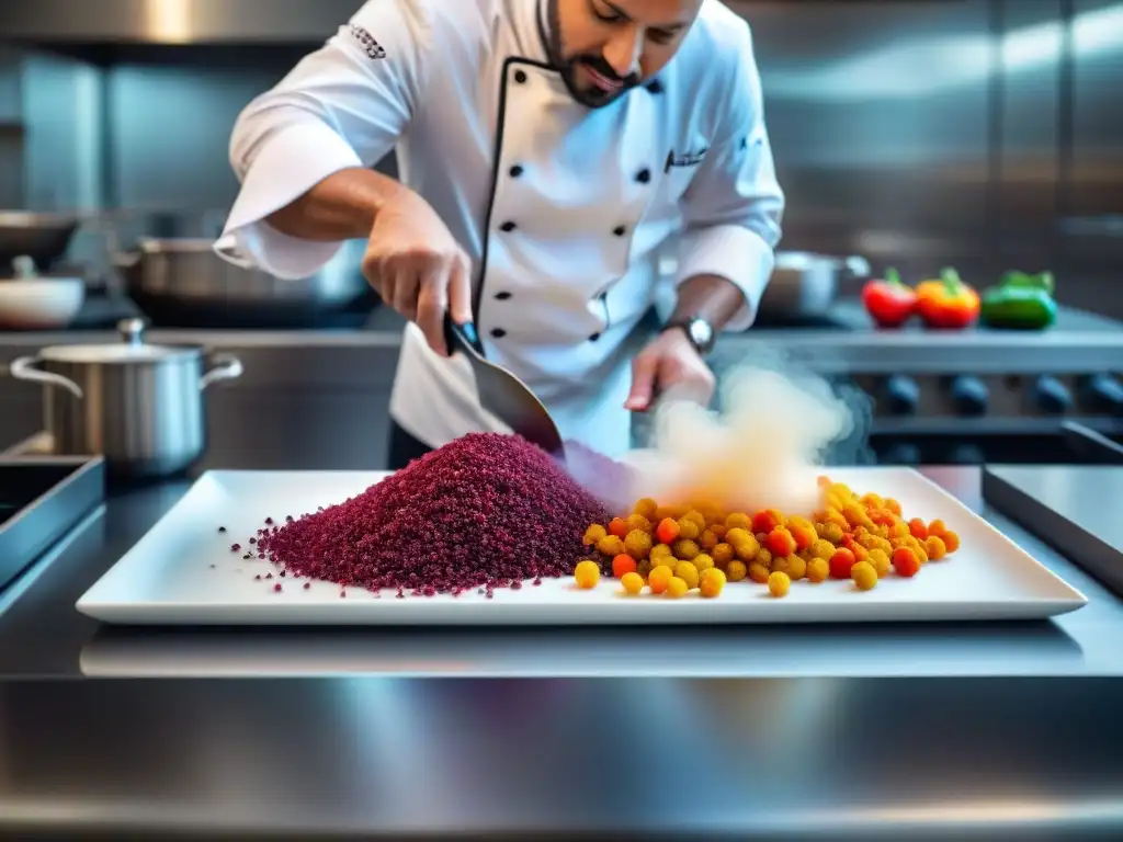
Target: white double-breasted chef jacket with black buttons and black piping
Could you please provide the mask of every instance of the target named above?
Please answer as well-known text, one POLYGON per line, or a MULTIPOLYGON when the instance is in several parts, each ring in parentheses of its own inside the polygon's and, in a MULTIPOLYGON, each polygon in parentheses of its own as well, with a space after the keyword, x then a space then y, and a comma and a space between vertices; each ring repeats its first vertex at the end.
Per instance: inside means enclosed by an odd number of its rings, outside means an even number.
MULTIPOLYGON (((527 383, 562 434, 609 456, 630 447, 633 344, 656 296, 654 250, 677 277, 725 277, 746 305, 773 269, 784 195, 746 21, 718 0, 652 83, 601 108, 550 64, 547 0, 372 0, 241 113, 241 181, 219 254, 279 277, 317 272, 340 244, 265 218, 339 170, 396 149, 400 177, 472 258, 486 356, 527 383)), ((506 431, 462 358, 409 326, 391 396, 407 432, 440 447, 506 431)))

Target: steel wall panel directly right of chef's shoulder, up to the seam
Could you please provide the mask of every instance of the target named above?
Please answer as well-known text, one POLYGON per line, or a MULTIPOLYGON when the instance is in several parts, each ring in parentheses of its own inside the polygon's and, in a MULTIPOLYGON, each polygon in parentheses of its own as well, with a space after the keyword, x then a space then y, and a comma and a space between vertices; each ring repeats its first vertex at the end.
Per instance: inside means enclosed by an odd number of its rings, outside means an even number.
POLYGON ((875 258, 986 247, 989 7, 738 4, 789 196, 785 246, 875 258))

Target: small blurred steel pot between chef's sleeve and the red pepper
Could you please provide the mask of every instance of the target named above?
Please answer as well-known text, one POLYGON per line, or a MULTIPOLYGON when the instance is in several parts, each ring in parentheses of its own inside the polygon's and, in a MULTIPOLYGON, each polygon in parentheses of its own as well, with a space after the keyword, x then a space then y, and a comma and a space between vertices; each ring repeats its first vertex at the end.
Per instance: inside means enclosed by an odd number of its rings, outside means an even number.
POLYGON ((869 274, 869 263, 864 257, 778 251, 758 315, 761 319, 827 315, 843 283, 867 278, 869 274))

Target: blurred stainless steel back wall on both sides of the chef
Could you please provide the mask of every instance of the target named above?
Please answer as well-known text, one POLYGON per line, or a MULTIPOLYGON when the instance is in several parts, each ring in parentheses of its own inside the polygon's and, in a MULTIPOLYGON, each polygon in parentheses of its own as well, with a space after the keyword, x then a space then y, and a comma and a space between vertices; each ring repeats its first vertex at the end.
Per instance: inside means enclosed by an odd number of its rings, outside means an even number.
MULTIPOLYGON (((214 9, 238 4, 228 2, 214 9)), ((1113 280, 1123 255, 1111 232, 1123 216, 1123 2, 732 6, 755 31, 788 193, 784 247, 858 251, 913 276, 944 263, 1070 267, 1094 291, 1065 295, 1111 309, 1099 280, 1113 280)), ((248 37, 253 18, 238 20, 248 37)), ((254 49, 101 43, 47 54, 28 31, 16 63, 22 201, 191 220, 234 199, 237 112, 323 35, 254 49)), ((0 91, 11 65, 0 61, 0 91)), ((0 156, 13 146, 0 139, 0 156)))

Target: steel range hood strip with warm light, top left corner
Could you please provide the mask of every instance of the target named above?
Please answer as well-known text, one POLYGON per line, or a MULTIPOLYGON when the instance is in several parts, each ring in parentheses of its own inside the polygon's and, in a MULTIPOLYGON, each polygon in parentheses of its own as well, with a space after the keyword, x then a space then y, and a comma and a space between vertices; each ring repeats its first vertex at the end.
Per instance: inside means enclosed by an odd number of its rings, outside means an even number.
POLYGON ((0 42, 314 43, 363 0, 0 0, 0 42))

